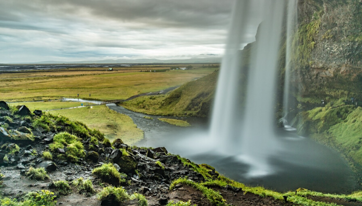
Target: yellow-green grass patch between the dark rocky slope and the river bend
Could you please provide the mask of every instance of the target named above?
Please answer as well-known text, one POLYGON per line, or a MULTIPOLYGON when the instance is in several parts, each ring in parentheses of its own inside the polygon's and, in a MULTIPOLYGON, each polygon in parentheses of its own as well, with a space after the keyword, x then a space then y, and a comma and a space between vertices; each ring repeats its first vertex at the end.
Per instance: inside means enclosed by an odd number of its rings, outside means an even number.
POLYGON ((49 113, 81 121, 89 128, 104 133, 110 141, 121 138, 125 143, 133 145, 143 138, 143 131, 137 128, 129 116, 110 110, 105 105, 55 110, 49 113))

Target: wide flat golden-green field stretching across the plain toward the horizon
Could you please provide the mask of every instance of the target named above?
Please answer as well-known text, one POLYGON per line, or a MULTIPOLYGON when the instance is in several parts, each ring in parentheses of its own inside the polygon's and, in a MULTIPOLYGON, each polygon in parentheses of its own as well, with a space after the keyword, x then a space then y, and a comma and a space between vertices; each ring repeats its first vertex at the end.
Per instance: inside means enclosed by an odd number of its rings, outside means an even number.
MULTIPOLYGON (((151 70, 151 68, 145 69, 151 70)), ((59 75, 40 71, 30 73, 30 76, 28 73, 5 73, 0 75, 0 95, 3 100, 8 102, 77 97, 77 94, 79 94, 79 98, 126 99, 141 93, 181 86, 187 81, 210 74, 215 69, 103 73, 60 71, 59 75), (45 76, 34 77, 32 75, 45 76), (90 97, 89 94, 91 94, 90 97)))

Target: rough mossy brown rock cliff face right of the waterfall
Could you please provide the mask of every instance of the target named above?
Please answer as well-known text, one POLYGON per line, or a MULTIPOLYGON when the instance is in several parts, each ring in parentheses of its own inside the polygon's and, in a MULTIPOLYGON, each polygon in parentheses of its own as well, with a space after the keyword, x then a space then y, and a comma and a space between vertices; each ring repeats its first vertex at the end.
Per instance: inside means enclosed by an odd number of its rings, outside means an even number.
POLYGON ((294 76, 299 101, 362 99, 362 1, 299 0, 294 76))

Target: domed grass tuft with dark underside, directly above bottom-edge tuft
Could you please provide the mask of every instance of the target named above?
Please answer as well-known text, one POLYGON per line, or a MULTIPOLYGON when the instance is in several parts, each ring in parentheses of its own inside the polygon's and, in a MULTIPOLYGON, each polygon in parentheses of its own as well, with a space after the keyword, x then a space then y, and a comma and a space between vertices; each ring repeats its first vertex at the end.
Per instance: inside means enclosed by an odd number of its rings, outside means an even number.
POLYGON ((126 180, 121 177, 121 173, 117 171, 116 167, 112 163, 103 164, 101 167, 94 168, 92 173, 101 178, 104 182, 108 182, 112 185, 119 186, 125 183, 126 180))

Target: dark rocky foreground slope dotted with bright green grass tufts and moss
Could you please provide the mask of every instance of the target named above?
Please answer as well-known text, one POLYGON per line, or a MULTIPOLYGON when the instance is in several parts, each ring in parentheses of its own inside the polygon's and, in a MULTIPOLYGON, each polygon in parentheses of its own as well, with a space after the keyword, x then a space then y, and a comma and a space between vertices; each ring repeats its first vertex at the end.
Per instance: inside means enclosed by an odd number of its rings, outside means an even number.
MULTIPOLYGON (((26 106, 9 108, 4 101, 0 101, 0 126, 0 205, 337 202, 325 197, 312 200, 307 193, 247 188, 206 164, 169 154, 165 148, 129 147, 121 139, 110 143, 99 131, 80 122, 31 112, 26 106)), ((361 205, 356 198, 337 203, 361 205)))

